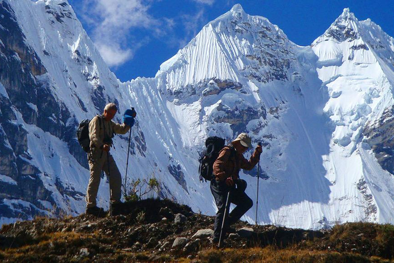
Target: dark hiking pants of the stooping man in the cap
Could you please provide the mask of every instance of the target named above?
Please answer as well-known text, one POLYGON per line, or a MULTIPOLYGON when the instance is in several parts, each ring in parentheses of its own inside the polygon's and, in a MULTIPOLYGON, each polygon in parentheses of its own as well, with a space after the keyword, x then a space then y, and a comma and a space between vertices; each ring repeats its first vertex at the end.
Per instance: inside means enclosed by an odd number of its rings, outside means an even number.
MULTIPOLYGON (((224 211, 226 209, 226 199, 228 191, 231 188, 226 185, 226 183, 218 182, 214 178, 211 180, 211 193, 215 198, 216 206, 218 206, 218 212, 215 217, 213 239, 219 240, 220 230, 222 228, 224 211)), ((230 202, 236 204, 235 208, 228 214, 225 221, 225 227, 223 230, 223 235, 225 235, 225 230, 231 226, 231 224, 237 222, 252 206, 253 201, 244 192, 233 188, 230 193, 230 202)))

